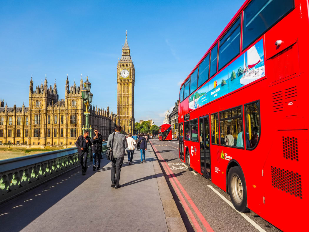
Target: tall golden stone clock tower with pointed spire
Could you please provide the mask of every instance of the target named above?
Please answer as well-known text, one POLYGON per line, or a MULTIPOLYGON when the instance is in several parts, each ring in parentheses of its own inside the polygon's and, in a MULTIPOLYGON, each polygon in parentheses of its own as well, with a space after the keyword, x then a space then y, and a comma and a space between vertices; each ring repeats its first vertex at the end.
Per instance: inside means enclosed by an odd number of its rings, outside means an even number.
POLYGON ((134 128, 134 82, 135 69, 125 32, 125 45, 117 65, 117 116, 125 134, 133 133, 134 128))

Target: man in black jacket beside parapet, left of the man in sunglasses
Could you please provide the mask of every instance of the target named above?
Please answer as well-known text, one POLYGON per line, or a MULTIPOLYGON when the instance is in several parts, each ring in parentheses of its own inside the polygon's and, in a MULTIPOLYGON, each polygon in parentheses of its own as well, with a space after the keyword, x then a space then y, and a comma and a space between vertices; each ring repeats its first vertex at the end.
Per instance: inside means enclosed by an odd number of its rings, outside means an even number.
POLYGON ((84 135, 81 135, 77 138, 75 146, 78 148, 78 158, 79 162, 82 165, 82 174, 86 175, 87 171, 87 156, 89 153, 89 147, 91 146, 91 138, 89 137, 89 131, 85 130, 84 135))

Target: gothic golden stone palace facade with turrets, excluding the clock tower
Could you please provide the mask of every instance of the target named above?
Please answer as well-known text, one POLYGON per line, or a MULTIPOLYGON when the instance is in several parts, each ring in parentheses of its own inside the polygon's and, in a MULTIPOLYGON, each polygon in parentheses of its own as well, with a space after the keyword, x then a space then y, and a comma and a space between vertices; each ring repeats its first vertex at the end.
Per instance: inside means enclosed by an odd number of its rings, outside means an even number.
MULTIPOLYGON (((3 101, 0 107, 0 144, 27 144, 29 148, 74 147, 86 122, 81 94, 83 77, 80 86, 75 81, 73 86, 69 86, 67 77, 65 87, 65 99, 59 100, 56 81, 53 88, 48 88, 45 77, 44 84, 42 82, 34 90, 31 78, 29 107, 24 104, 22 107, 7 107, 3 101)), ((93 129, 97 127, 103 138, 107 139, 116 126, 117 116, 110 114, 109 107, 102 110, 91 106, 90 112, 90 125, 93 129)))

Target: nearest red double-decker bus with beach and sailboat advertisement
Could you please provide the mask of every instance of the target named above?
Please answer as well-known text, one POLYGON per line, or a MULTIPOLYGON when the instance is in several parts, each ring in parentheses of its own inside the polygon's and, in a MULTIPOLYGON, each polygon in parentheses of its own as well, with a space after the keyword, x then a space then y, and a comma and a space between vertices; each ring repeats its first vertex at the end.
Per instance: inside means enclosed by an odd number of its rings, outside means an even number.
POLYGON ((309 205, 308 9, 246 1, 180 88, 180 159, 284 231, 305 230, 309 205))

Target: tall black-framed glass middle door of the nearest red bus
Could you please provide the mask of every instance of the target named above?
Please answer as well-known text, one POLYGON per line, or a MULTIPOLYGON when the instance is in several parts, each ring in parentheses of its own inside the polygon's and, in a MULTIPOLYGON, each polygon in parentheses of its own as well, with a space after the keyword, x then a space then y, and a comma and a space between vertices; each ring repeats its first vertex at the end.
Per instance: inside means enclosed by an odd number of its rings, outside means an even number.
POLYGON ((200 118, 200 153, 201 153, 201 174, 207 178, 210 175, 210 135, 209 116, 200 118))

